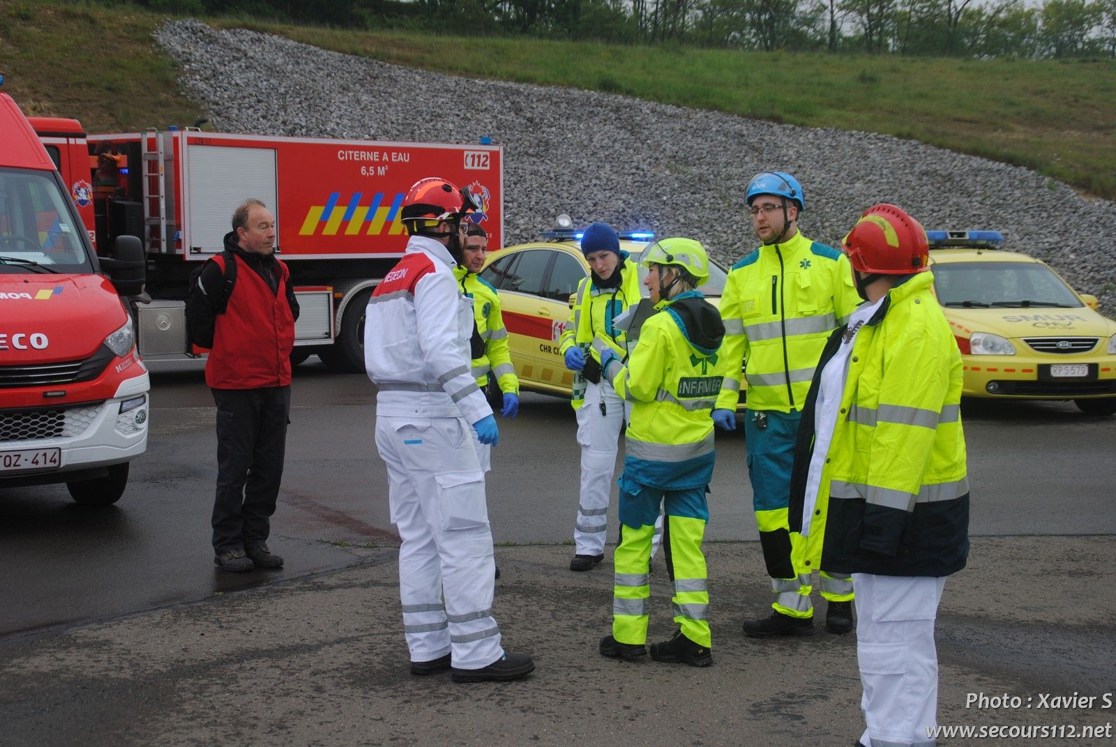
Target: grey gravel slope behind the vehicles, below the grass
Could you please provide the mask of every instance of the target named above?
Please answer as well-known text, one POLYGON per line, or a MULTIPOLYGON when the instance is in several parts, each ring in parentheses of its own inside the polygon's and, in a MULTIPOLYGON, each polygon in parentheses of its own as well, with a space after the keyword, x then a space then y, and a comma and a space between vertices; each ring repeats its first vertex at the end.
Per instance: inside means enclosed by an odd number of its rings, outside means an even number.
POLYGON ((888 135, 458 78, 198 21, 167 22, 156 37, 218 131, 451 143, 490 135, 504 147, 506 243, 536 238, 567 212, 579 224, 693 237, 729 264, 756 246, 748 180, 778 169, 802 182, 800 224, 812 239, 836 246, 865 208, 894 202, 927 229, 999 229, 1007 248, 1116 308, 1116 203, 1019 166, 888 135), (484 114, 461 116, 465 102, 484 114))

